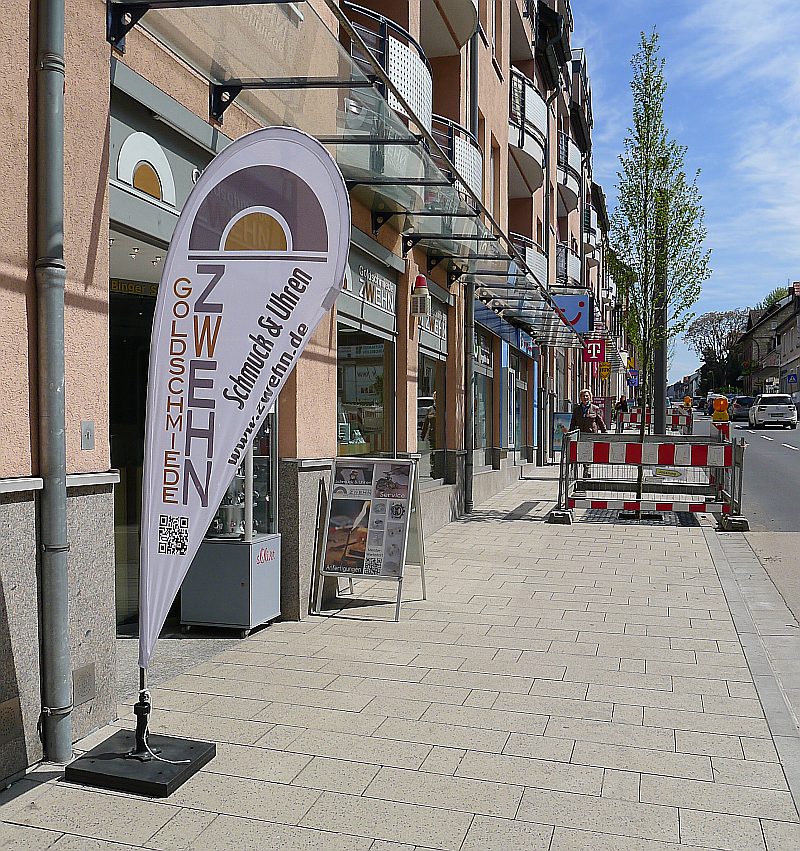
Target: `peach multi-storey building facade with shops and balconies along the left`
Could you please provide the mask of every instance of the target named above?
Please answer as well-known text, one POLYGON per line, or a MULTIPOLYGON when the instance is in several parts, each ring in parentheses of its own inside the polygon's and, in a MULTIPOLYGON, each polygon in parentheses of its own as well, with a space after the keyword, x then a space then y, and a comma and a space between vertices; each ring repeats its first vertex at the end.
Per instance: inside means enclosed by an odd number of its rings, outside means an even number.
MULTIPOLYGON (((35 4, 34 4, 35 5, 35 4)), ((337 456, 419 456, 425 529, 553 456, 581 387, 625 392, 605 268, 588 60, 568 0, 342 0, 133 10, 66 0, 64 393, 75 738, 114 715, 114 638, 135 628, 150 329, 181 207, 216 153, 271 124, 322 140, 348 183, 343 291, 254 452, 258 531, 282 536, 281 612, 308 612, 337 456), (411 316, 417 275, 432 295, 411 316), (571 312, 574 311, 574 312, 571 312), (468 332, 474 315, 474 333, 468 332), (465 330, 465 328, 467 330, 465 330), (584 362, 602 339, 605 363, 584 362), (472 376, 467 392, 465 376, 472 376), (472 429, 465 404, 472 404, 472 429), (469 453, 469 462, 467 454, 469 453)), ((0 779, 41 757, 38 410, 32 248, 37 56, 9 4, 0 283, 7 321, 0 517, 0 779), (20 226, 22 224, 22 226, 20 226)), ((608 406, 610 410, 610 405, 608 406)), ((238 531, 234 512, 220 527, 238 531)), ((230 516, 229 516, 230 515, 230 516)))

